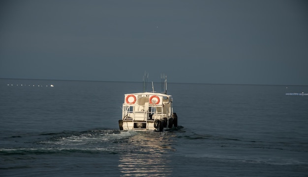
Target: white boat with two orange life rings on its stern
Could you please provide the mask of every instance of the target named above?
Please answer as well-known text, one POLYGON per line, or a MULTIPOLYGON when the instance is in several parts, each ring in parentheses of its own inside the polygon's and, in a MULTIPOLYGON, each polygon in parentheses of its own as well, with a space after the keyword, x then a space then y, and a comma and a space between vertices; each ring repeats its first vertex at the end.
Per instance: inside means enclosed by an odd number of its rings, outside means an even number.
POLYGON ((173 98, 167 95, 165 76, 164 82, 163 93, 154 92, 154 88, 153 92, 145 92, 147 84, 144 79, 144 92, 124 95, 120 130, 162 131, 178 126, 178 117, 172 107, 173 98))

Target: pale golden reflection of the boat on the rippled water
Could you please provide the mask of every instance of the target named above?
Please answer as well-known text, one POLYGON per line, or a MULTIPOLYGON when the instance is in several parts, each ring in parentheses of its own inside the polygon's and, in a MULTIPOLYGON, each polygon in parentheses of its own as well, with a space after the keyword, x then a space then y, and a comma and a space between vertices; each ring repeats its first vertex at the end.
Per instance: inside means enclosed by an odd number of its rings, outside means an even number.
MULTIPOLYGON (((130 137, 125 149, 130 152, 120 156, 120 171, 122 177, 166 177, 171 176, 169 151, 171 147, 169 132, 138 132, 130 137)), ((123 147, 124 148, 124 147, 123 147)))

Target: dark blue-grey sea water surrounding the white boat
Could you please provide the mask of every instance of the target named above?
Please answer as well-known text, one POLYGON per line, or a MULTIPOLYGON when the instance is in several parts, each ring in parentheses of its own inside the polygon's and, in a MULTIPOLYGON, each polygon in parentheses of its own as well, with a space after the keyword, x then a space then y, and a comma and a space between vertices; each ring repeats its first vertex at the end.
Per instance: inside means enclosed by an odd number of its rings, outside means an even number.
POLYGON ((308 176, 308 86, 168 83, 178 128, 120 131, 124 94, 141 91, 0 79, 0 176, 308 176))

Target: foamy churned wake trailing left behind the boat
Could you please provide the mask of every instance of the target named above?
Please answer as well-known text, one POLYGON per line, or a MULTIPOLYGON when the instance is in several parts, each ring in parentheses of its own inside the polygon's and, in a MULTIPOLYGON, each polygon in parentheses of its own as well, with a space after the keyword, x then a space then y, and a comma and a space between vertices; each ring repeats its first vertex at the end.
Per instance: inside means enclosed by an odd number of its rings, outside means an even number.
MULTIPOLYGON (((40 135, 50 138, 42 141, 35 141, 33 145, 37 147, 18 147, 0 149, 1 154, 45 154, 45 153, 118 153, 119 149, 112 144, 114 141, 121 141, 136 135, 134 131, 119 130, 89 130, 83 132, 61 132, 44 133, 40 135)), ((35 137, 36 135, 32 135, 35 137)), ((15 136, 14 136, 15 137, 15 136)), ((22 136, 19 136, 22 137, 22 136)), ((29 145, 28 142, 27 144, 29 145)), ((32 144, 32 143, 31 143, 32 144)))

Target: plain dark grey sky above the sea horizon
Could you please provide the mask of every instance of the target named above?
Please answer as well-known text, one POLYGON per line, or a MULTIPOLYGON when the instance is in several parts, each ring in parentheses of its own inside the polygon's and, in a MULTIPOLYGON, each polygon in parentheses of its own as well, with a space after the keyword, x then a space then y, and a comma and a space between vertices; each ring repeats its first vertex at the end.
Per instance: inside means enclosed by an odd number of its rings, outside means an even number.
POLYGON ((1 0, 0 77, 308 85, 306 0, 1 0))

